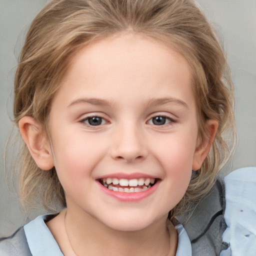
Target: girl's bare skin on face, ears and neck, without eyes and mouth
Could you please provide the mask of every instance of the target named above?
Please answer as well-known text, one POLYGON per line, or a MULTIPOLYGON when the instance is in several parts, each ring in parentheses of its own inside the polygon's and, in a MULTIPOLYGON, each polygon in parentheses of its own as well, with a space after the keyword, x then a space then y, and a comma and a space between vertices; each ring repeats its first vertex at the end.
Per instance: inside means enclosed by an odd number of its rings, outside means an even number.
POLYGON ((209 140, 198 136, 192 74, 182 55, 132 33, 91 43, 74 55, 53 98, 50 138, 31 117, 19 127, 37 165, 55 166, 65 190, 66 212, 47 222, 64 254, 175 255, 168 211, 217 129, 208 120, 209 140), (101 124, 90 125, 92 116, 101 124), (165 122, 154 124, 156 116, 165 122), (131 201, 102 192, 97 178, 120 172, 153 176, 157 188, 131 201))

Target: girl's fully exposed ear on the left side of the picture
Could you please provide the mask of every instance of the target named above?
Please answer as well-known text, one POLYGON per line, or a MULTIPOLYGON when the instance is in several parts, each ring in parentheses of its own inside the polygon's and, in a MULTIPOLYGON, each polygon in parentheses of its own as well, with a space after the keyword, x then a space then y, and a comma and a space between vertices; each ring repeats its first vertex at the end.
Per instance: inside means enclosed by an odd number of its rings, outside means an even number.
POLYGON ((19 122, 21 136, 37 166, 43 170, 51 169, 53 164, 50 142, 43 135, 41 125, 32 117, 24 116, 19 122))

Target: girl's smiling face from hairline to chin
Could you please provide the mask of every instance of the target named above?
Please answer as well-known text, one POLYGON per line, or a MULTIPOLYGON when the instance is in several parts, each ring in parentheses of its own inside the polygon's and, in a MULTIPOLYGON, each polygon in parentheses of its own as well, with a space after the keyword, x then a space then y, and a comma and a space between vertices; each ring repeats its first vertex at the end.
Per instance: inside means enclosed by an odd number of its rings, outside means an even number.
POLYGON ((67 209, 117 230, 166 220, 203 160, 187 61, 131 33, 75 54, 49 130, 67 209))

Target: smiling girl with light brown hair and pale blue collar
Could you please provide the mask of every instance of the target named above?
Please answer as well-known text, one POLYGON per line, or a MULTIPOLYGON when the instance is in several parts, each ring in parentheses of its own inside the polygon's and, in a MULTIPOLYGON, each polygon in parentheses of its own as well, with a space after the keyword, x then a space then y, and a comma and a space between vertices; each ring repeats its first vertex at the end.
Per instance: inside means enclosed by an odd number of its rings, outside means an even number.
POLYGON ((222 201, 213 239, 200 240, 202 225, 190 242, 175 218, 212 188, 223 197, 223 133, 234 134, 225 57, 193 1, 50 1, 14 94, 20 198, 63 210, 2 239, 1 255, 186 256, 191 242, 193 255, 230 252, 222 201))

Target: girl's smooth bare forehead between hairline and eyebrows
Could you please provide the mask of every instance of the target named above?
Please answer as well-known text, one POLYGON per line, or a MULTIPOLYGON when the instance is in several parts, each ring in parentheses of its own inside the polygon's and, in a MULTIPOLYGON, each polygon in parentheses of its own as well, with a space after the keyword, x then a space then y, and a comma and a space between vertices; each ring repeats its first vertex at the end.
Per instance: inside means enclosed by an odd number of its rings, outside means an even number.
MULTIPOLYGON (((184 97, 184 92, 188 98, 193 94, 186 59, 160 40, 129 32, 91 42, 78 50, 57 94, 69 90, 66 96, 75 100, 78 94, 104 97, 113 90, 131 100, 136 94, 150 100, 152 95, 164 97, 171 84, 175 85, 171 92, 174 97, 184 97)), ((108 99, 111 101, 111 94, 108 99)))

